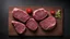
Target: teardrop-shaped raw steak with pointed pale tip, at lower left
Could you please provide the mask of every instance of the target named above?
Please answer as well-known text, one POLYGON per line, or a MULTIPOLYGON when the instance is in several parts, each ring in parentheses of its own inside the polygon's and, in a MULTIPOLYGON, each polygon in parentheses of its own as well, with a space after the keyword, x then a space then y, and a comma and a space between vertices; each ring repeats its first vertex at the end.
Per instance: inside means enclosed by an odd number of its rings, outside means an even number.
POLYGON ((20 22, 16 22, 16 21, 12 21, 12 24, 15 28, 15 30, 19 32, 19 34, 23 34, 25 31, 25 25, 20 23, 20 22))

